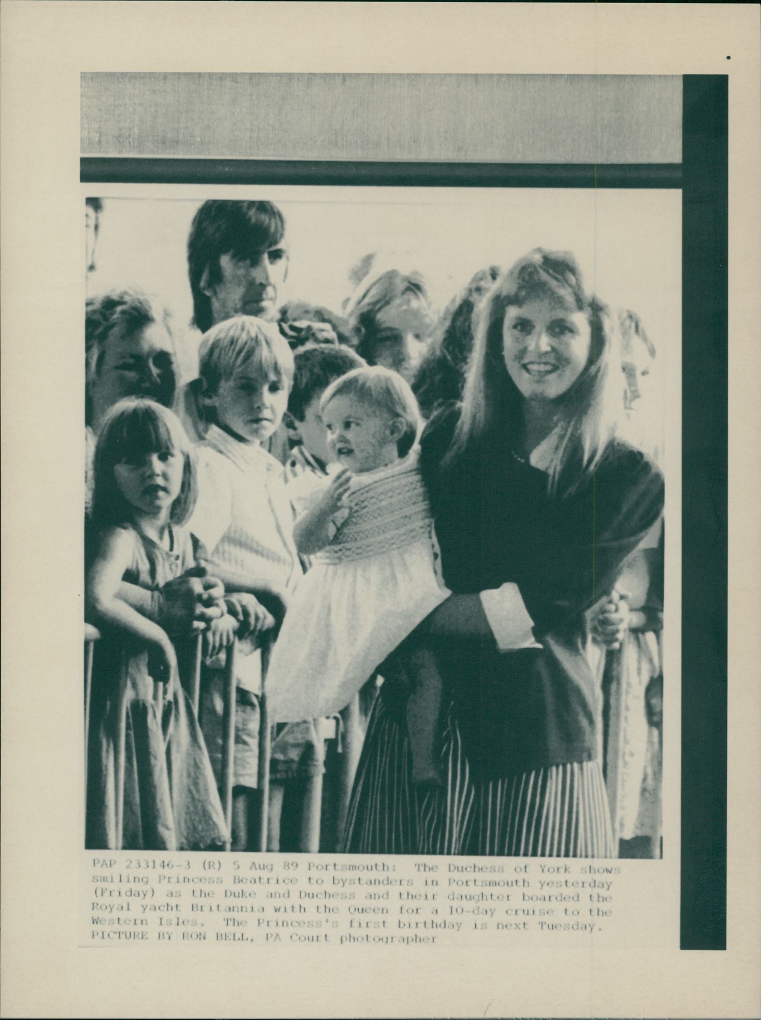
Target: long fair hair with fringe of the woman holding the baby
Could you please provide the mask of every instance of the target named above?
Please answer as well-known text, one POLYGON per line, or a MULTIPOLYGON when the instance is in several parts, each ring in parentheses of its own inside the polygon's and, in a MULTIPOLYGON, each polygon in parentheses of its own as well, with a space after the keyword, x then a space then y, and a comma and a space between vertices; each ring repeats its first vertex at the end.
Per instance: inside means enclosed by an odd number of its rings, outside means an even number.
POLYGON ((549 468, 550 492, 571 492, 600 463, 614 438, 621 408, 621 362, 617 330, 606 306, 584 288, 578 264, 568 252, 535 248, 519 259, 486 298, 475 333, 462 399, 462 413, 445 458, 454 464, 480 443, 522 427, 523 397, 505 364, 503 326, 507 309, 535 298, 561 300, 587 313, 590 358, 570 389, 557 398, 557 442, 549 468))

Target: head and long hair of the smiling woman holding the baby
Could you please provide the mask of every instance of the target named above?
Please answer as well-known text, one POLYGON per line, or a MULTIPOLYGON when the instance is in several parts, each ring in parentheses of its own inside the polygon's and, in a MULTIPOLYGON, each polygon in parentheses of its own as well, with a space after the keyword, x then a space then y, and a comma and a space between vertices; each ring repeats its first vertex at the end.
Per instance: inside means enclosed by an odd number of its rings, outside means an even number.
POLYGON ((480 330, 449 459, 502 417, 522 458, 553 436, 552 488, 569 458, 594 470, 623 417, 620 335, 575 257, 536 248, 518 259, 490 294, 480 330))

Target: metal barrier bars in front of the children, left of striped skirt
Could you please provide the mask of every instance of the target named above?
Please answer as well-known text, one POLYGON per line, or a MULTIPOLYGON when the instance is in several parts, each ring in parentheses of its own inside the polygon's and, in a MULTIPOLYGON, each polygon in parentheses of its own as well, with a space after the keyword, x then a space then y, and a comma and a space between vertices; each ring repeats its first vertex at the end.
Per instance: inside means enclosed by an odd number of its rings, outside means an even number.
MULTIPOLYGON (((100 640, 100 632, 91 624, 85 624, 85 803, 87 804, 87 776, 88 776, 88 755, 89 737, 91 728, 91 705, 93 695, 93 664, 95 659, 95 649, 100 640)), ((203 667, 203 636, 199 634, 195 640, 192 656, 192 669, 187 677, 185 686, 188 692, 193 711, 196 717, 201 713, 201 683, 203 667)), ((265 640, 261 646, 261 690, 254 697, 259 707, 259 760, 258 760, 258 789, 257 818, 255 825, 255 837, 253 839, 253 850, 264 852, 267 850, 267 836, 269 828, 269 765, 272 744, 272 726, 269 721, 266 698, 266 674, 269 664, 269 654, 271 642, 265 640)), ((233 828, 233 792, 235 785, 235 745, 236 745, 236 699, 237 699, 237 673, 236 663, 238 658, 238 643, 235 642, 227 649, 223 670, 223 700, 222 700, 222 750, 221 750, 221 781, 220 795, 224 818, 227 826, 227 833, 232 835, 233 828)), ((114 747, 114 773, 115 773, 115 846, 114 850, 120 850, 123 834, 123 800, 124 800, 124 766, 125 766, 125 743, 126 743, 126 702, 128 702, 128 679, 129 679, 129 659, 122 651, 119 656, 118 675, 118 716, 116 726, 116 740, 114 747)), ((349 808, 349 798, 351 796, 354 774, 356 772, 359 753, 362 747, 363 731, 360 723, 359 699, 347 706, 346 709, 335 717, 333 729, 331 722, 324 720, 327 725, 320 729, 323 741, 337 740, 341 742, 343 737, 343 748, 339 749, 338 768, 336 785, 337 794, 337 845, 341 842, 346 816, 349 808)), ((334 778, 334 777, 332 777, 334 778)), ((302 818, 299 834, 299 851, 304 853, 317 853, 320 849, 320 822, 322 815, 322 775, 312 777, 306 784, 304 803, 302 806, 302 818)), ((232 839, 225 843, 224 850, 230 851, 232 839)))

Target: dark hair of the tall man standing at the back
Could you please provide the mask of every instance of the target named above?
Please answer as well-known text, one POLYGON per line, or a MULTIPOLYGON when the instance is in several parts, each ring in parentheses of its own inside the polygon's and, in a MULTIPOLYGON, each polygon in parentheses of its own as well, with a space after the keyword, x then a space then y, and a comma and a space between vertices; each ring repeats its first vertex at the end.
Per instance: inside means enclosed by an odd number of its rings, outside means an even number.
POLYGON ((193 293, 193 322, 202 333, 214 324, 211 301, 201 290, 214 287, 221 279, 219 257, 232 255, 243 261, 257 262, 270 248, 275 248, 286 233, 283 213, 271 202, 240 202, 211 199, 204 202, 193 217, 188 237, 188 275, 193 293))

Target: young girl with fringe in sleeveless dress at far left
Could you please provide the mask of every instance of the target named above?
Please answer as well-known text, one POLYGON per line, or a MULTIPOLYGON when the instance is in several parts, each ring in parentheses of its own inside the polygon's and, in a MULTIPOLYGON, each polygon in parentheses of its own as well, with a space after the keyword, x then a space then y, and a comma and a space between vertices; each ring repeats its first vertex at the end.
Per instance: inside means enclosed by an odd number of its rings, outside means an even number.
POLYGON ((156 590, 195 562, 182 526, 196 499, 190 444, 151 400, 114 405, 95 451, 99 548, 87 599, 104 635, 96 652, 88 762, 87 846, 117 847, 117 742, 125 712, 122 849, 205 850, 227 838, 201 730, 166 632, 119 598, 156 590), (120 678, 122 678, 121 682, 120 678), (125 699, 125 707, 122 702, 125 699))

